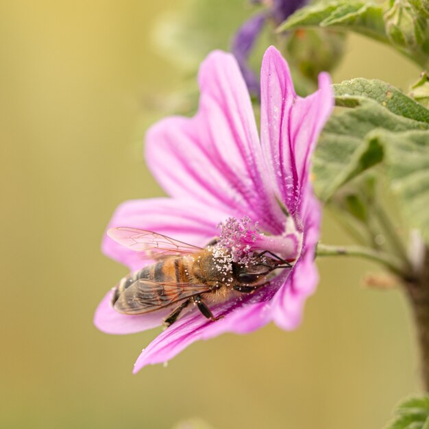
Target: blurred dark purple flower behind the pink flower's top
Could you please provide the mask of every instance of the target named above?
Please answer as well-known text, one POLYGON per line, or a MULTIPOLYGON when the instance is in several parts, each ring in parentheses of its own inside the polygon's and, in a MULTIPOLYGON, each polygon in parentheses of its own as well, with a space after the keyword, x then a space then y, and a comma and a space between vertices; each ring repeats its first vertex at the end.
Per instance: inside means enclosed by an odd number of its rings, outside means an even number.
POLYGON ((256 79, 255 73, 247 64, 247 60, 264 24, 270 19, 277 25, 282 23, 289 15, 302 8, 307 2, 308 0, 252 0, 252 3, 266 4, 268 9, 252 16, 238 28, 231 43, 231 51, 238 61, 250 93, 254 95, 259 95, 260 93, 258 79, 256 79))

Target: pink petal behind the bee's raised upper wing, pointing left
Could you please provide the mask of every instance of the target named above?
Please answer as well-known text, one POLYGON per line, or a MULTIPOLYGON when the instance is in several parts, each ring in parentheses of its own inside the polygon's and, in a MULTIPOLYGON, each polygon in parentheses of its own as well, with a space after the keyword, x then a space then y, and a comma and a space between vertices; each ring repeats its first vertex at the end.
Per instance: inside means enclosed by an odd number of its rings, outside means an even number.
MULTIPOLYGON (((220 210, 189 200, 135 199, 125 201, 117 208, 107 229, 119 226, 140 228, 204 247, 219 234, 216 227, 227 217, 228 215, 220 210)), ((131 271, 151 263, 144 260, 140 253, 120 245, 107 234, 103 238, 102 249, 104 254, 127 265, 131 271)))

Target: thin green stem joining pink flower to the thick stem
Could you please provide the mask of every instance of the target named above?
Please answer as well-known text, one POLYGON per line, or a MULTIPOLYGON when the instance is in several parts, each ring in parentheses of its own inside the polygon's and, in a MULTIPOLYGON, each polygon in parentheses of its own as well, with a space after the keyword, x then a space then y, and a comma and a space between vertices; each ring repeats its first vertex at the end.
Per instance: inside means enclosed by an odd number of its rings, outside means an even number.
POLYGON ((401 278, 406 278, 406 267, 402 260, 396 258, 386 252, 370 249, 365 246, 333 246, 319 243, 317 245, 317 256, 352 256, 366 258, 379 262, 387 267, 393 273, 400 275, 401 278))

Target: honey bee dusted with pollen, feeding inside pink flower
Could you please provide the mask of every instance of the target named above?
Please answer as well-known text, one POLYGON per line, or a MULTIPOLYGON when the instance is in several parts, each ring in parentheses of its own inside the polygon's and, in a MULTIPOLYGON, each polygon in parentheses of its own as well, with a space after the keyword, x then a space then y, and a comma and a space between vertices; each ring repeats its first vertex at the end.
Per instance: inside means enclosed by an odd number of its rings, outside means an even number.
POLYGON ((232 299, 241 293, 254 293, 268 283, 275 269, 292 265, 279 256, 261 252, 252 262, 232 262, 228 250, 216 241, 197 247, 156 232, 136 228, 112 228, 108 236, 140 252, 155 263, 126 275, 114 288, 112 306, 125 315, 144 315, 171 308, 164 319, 170 326, 189 304, 197 306, 207 319, 215 317, 208 304, 232 299))

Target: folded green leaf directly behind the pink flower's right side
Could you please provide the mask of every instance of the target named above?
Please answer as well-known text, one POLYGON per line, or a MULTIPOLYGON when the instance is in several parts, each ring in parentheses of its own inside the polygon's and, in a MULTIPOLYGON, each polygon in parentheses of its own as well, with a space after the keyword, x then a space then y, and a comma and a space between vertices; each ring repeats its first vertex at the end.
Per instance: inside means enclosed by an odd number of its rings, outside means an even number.
POLYGON ((379 80, 352 79, 334 85, 336 105, 321 134, 314 158, 315 189, 328 200, 338 188, 382 162, 384 147, 373 130, 428 130, 429 110, 379 80))

